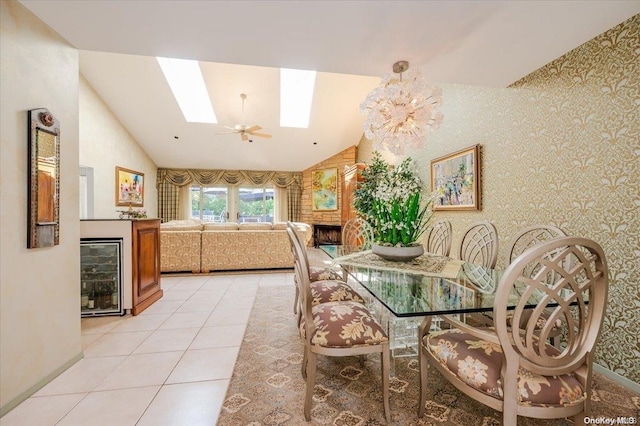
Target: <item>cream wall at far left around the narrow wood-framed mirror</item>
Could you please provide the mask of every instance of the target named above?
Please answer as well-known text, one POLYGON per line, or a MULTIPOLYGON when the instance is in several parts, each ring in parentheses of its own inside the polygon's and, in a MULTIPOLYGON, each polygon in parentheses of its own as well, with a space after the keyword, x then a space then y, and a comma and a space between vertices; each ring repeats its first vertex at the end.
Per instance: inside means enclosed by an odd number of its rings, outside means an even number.
POLYGON ((78 52, 0 2, 0 415, 82 356, 78 52), (60 244, 27 249, 27 110, 60 121, 60 244))

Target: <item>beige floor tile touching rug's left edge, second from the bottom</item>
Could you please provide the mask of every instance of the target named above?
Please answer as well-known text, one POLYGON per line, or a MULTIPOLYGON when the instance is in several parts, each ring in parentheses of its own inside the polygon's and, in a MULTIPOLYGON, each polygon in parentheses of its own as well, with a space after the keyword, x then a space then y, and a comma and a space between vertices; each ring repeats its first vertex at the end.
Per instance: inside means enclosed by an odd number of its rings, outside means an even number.
POLYGON ((239 350, 238 347, 188 350, 166 383, 230 379, 239 350))

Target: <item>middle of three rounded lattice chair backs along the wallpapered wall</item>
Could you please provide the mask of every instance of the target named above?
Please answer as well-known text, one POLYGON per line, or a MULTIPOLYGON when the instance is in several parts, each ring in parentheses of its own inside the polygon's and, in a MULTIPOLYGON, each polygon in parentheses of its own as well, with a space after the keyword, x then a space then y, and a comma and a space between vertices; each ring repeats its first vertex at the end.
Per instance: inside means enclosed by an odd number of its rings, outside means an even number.
POLYGON ((488 222, 472 225, 462 236, 460 260, 494 268, 498 260, 498 230, 488 222))

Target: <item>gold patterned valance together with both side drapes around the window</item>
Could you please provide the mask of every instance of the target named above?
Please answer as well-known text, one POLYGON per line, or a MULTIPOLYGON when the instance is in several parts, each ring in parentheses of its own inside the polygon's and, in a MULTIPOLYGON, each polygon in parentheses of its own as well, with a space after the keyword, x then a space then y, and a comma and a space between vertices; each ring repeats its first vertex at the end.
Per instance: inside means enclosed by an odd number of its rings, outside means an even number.
MULTIPOLYGON (((302 173, 264 172, 253 170, 158 169, 158 216, 163 222, 179 218, 180 187, 192 183, 200 186, 215 184, 238 185, 248 182, 256 186, 273 184, 287 189, 287 220, 300 220, 302 173)), ((182 191, 184 193, 184 191, 182 191)), ((184 200, 183 200, 184 201, 184 200)))

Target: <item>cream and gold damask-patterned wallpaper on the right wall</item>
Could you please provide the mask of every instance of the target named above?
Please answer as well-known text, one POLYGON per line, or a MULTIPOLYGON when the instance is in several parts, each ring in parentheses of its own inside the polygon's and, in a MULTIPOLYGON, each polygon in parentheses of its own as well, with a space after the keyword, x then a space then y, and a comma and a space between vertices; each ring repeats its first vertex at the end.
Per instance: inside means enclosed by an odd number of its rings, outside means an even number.
MULTIPOLYGON (((438 212, 451 220, 452 253, 464 229, 498 228, 499 267, 516 232, 548 223, 599 242, 610 271, 596 354, 640 383, 640 15, 509 88, 441 85, 444 121, 426 148, 408 152, 429 182, 432 158, 482 145, 483 210, 438 212)), ((362 140, 358 161, 371 159, 362 140)), ((388 153, 384 157, 393 163, 388 153)))

